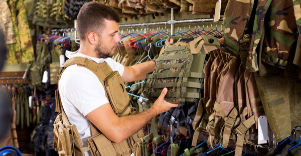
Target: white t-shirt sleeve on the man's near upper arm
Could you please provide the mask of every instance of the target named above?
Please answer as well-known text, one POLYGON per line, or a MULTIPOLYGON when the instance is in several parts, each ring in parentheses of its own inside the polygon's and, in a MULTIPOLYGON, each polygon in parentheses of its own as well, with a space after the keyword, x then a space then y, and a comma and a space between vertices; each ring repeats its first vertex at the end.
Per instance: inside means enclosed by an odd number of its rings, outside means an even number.
MULTIPOLYGON (((68 68, 67 68, 68 69, 68 68)), ((63 72, 63 74, 65 71, 63 72)), ((76 67, 65 81, 66 97, 83 114, 87 115, 97 107, 109 103, 105 90, 97 76, 85 67, 76 67)), ((63 76, 63 75, 62 75, 63 76)))

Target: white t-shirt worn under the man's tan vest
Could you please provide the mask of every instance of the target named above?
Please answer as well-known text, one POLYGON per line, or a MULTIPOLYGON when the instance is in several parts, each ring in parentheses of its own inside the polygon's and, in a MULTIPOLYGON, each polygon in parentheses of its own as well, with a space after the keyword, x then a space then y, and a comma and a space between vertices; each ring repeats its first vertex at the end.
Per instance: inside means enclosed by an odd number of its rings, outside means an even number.
MULTIPOLYGON (((66 51, 66 56, 68 58, 75 56, 86 57, 97 63, 106 61, 112 70, 118 71, 120 75, 124 71, 124 66, 112 58, 95 58, 77 51, 71 52, 68 50, 66 51)), ((91 136, 91 131, 90 120, 85 115, 109 102, 105 96, 104 87, 91 70, 76 64, 70 65, 65 69, 58 87, 66 115, 70 123, 76 125, 82 143, 86 146, 86 139, 91 136)), ((87 154, 88 152, 85 152, 85 155, 87 154)))

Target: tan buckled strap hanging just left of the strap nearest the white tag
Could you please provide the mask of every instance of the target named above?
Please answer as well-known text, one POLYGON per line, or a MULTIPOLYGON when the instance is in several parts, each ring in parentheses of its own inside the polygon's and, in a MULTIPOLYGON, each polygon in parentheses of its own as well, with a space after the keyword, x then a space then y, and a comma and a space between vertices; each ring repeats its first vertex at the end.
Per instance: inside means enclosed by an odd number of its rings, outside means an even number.
POLYGON ((225 120, 224 133, 223 133, 223 144, 222 144, 222 147, 224 147, 224 148, 227 148, 227 146, 228 146, 232 127, 235 123, 237 115, 238 115, 238 111, 234 107, 225 120))

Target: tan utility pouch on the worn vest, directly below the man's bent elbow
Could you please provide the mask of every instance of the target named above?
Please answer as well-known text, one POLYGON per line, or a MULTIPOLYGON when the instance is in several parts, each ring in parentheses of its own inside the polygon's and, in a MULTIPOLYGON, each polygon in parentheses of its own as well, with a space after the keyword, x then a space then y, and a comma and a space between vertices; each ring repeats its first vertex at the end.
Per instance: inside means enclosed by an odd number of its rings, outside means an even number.
POLYGON ((92 156, 100 155, 125 155, 130 153, 127 145, 127 139, 120 143, 110 141, 103 134, 96 134, 87 139, 92 156))

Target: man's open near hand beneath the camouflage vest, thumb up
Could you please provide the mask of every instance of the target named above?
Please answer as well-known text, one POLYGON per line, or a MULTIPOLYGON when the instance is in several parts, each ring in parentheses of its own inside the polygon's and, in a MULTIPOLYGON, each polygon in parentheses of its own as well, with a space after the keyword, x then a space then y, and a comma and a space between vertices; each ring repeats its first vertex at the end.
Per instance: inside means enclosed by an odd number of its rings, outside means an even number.
POLYGON ((160 114, 162 112, 165 112, 165 111, 168 111, 169 109, 171 109, 172 107, 176 107, 178 106, 179 104, 174 104, 174 103, 170 103, 170 102, 167 102, 164 97, 167 93, 167 88, 165 87, 160 96, 157 98, 157 100, 154 102, 153 104, 153 107, 156 108, 157 110, 157 113, 160 114))

